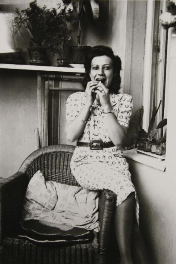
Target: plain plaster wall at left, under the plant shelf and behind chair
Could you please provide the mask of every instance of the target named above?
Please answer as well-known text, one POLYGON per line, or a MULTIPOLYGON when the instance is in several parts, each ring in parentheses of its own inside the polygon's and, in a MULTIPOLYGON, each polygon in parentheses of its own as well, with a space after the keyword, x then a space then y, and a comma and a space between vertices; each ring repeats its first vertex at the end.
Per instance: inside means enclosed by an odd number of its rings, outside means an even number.
POLYGON ((35 150, 36 73, 1 70, 0 91, 0 177, 6 178, 35 150))

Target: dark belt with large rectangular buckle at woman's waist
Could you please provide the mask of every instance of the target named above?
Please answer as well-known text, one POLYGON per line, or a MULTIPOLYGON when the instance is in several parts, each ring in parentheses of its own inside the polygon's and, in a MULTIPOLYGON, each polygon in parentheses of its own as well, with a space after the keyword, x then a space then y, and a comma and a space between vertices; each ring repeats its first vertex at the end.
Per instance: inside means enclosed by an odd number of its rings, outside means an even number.
POLYGON ((104 148, 111 148, 114 147, 114 143, 110 142, 103 142, 103 140, 90 140, 90 142, 80 142, 76 143, 78 147, 90 147, 92 150, 96 149, 104 149, 104 148))

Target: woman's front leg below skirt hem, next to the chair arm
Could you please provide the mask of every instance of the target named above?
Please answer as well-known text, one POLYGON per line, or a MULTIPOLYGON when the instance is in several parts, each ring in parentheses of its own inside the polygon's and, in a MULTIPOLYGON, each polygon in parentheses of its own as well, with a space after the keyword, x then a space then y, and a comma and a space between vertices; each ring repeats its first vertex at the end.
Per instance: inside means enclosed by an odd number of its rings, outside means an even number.
POLYGON ((127 199, 116 206, 115 236, 119 246, 120 264, 132 264, 131 239, 134 217, 134 192, 127 199))

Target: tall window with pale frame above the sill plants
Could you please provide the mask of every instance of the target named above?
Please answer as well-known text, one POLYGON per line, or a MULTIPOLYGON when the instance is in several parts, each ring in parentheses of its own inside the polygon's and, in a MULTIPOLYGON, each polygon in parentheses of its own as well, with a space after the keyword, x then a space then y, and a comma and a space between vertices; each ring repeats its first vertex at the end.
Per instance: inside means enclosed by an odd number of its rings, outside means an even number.
MULTIPOLYGON (((165 10, 166 1, 148 0, 143 79, 143 128, 145 131, 148 131, 153 107, 158 107, 160 101, 161 105, 155 118, 154 128, 167 116, 166 61, 168 30, 164 30, 159 24, 159 15, 165 10)), ((159 129, 157 138, 160 138, 164 132, 159 129)))

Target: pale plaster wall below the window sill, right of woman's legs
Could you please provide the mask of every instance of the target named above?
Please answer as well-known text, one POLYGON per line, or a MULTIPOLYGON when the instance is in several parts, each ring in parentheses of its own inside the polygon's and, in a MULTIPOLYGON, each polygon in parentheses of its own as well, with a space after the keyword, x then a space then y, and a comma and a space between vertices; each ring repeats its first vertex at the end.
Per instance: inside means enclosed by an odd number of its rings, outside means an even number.
MULTIPOLYGON (((154 264, 174 264, 174 175, 128 159, 140 205, 140 230, 154 264)), ((156 161, 160 162, 160 161, 156 161)))

